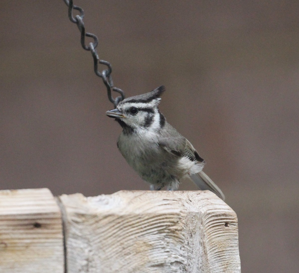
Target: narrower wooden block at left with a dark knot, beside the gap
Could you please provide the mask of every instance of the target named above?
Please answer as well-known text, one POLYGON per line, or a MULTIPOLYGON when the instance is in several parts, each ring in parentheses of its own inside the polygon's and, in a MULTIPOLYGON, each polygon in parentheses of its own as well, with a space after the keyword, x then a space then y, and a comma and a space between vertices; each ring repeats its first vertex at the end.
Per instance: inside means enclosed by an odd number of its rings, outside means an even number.
POLYGON ((61 214, 48 189, 0 191, 0 272, 64 272, 61 214))

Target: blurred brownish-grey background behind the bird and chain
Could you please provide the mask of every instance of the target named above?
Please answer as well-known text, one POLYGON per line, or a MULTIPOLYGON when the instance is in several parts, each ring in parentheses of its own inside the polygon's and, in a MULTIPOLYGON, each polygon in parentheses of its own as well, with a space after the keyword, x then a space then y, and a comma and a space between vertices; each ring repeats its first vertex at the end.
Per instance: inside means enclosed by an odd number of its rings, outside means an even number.
MULTIPOLYGON (((79 1, 126 96, 160 109, 239 219, 242 273, 299 271, 299 1, 79 1)), ((60 1, 1 1, 0 189, 148 189, 60 1)), ((101 67, 102 68, 102 67, 101 67)))

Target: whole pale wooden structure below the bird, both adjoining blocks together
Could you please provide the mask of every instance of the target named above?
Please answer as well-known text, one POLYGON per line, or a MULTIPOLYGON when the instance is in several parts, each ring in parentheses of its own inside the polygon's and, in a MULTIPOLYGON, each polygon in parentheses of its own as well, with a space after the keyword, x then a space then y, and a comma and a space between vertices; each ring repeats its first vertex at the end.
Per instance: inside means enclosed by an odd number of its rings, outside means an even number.
POLYGON ((57 201, 48 189, 0 191, 0 272, 240 272, 236 214, 210 191, 57 201))

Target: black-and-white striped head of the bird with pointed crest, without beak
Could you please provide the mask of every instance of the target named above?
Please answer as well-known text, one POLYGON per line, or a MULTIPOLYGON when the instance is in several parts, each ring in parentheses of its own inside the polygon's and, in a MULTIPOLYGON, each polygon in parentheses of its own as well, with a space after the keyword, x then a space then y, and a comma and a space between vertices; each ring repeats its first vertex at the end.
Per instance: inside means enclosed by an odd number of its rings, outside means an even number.
POLYGON ((158 131, 165 124, 165 117, 160 113, 158 105, 160 96, 165 91, 162 85, 149 93, 132 96, 119 102, 117 109, 125 118, 117 121, 124 133, 134 133, 151 129, 158 131))

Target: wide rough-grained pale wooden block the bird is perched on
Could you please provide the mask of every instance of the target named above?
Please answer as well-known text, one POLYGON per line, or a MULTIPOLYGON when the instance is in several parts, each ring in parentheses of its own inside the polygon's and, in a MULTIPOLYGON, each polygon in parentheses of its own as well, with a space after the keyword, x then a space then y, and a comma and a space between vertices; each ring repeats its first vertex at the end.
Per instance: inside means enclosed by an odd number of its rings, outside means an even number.
POLYGON ((71 273, 240 272, 235 212, 210 191, 62 195, 71 273))

